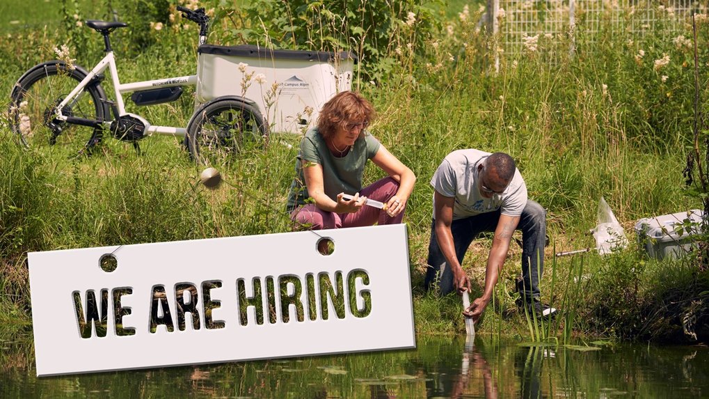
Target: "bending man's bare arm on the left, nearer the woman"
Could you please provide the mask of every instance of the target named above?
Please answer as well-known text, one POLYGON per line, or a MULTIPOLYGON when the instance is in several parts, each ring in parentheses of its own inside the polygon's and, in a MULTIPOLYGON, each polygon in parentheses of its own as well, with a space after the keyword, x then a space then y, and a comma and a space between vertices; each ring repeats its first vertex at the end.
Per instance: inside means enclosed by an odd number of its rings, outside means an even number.
MULTIPOLYGON (((455 255, 453 233, 450 230, 450 225, 453 222, 453 205, 455 198, 445 197, 437 191, 434 192, 433 196, 435 198, 434 217, 438 248, 440 248, 441 253, 443 253, 447 266, 453 272, 453 284, 457 292, 464 293, 465 290, 470 290, 470 280, 455 255)), ((438 265, 431 266, 437 267, 438 265)))

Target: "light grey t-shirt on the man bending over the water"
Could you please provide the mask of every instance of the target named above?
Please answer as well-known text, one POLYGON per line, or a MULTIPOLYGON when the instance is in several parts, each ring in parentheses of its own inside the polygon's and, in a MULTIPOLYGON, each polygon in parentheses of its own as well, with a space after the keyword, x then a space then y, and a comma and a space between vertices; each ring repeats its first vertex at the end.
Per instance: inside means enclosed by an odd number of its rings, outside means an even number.
MULTIPOLYGON (((515 175, 502 194, 485 198, 480 194, 478 165, 490 153, 468 149, 448 154, 431 178, 431 185, 444 197, 454 197, 453 220, 498 209, 508 216, 520 216, 527 205, 527 186, 515 169, 515 175)), ((435 218, 435 196, 434 196, 435 218)))

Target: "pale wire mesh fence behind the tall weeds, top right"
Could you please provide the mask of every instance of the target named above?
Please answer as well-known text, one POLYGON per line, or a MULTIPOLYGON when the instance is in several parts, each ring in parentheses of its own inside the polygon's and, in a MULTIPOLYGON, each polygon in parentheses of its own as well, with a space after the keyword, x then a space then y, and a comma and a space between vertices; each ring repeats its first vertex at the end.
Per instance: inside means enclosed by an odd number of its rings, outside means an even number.
POLYGON ((706 13, 707 5, 696 0, 489 0, 488 9, 506 53, 518 53, 535 36, 582 33, 593 42, 602 30, 645 35, 661 24, 680 31, 693 12, 706 13))

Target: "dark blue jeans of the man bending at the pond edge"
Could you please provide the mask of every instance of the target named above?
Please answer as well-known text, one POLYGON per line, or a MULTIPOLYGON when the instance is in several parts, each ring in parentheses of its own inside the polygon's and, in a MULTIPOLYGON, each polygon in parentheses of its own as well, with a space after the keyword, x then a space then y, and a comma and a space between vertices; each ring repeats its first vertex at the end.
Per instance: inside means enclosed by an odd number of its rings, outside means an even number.
MULTIPOLYGON (((522 231, 522 278, 524 282, 523 294, 527 299, 540 297, 539 280, 544 271, 544 246, 547 239, 547 212, 540 204, 527 200, 527 206, 522 211, 517 230, 522 231)), ((486 231, 493 232, 500 219, 500 211, 478 214, 465 219, 454 220, 450 226, 453 233, 455 255, 460 264, 463 263, 465 253, 470 243, 479 234, 486 231)), ((438 247, 436 239, 435 221, 431 223, 431 239, 428 244, 428 270, 426 270, 425 288, 428 290, 436 279, 441 266, 445 265, 445 257, 438 247)), ((441 294, 445 295, 454 290, 453 273, 450 268, 444 267, 440 275, 441 294)))

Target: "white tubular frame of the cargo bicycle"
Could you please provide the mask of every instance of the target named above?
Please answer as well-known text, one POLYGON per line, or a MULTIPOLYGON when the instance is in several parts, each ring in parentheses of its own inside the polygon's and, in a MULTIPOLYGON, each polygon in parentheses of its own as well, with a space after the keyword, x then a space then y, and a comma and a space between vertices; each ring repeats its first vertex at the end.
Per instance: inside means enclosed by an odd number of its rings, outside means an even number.
MULTIPOLYGON (((56 119, 59 119, 60 121, 65 121, 68 123, 71 123, 71 121, 68 120, 69 117, 65 116, 62 114, 62 109, 64 109, 65 106, 67 106, 70 102, 72 102, 78 95, 79 93, 84 90, 84 88, 91 82, 91 80, 94 79, 97 75, 101 74, 101 72, 104 72, 108 68, 108 70, 111 72, 111 80, 113 81, 113 91, 116 96, 116 106, 118 108, 118 116, 124 116, 128 115, 128 113, 125 111, 125 103, 123 102, 123 93, 130 93, 130 92, 138 92, 139 90, 142 89, 157 89, 160 87, 176 87, 176 86, 196 86, 197 84, 197 75, 189 75, 189 76, 181 76, 181 77, 168 77, 164 79, 159 79, 159 80, 145 80, 142 82, 131 82, 131 83, 125 83, 121 84, 121 81, 118 79, 118 69, 116 68, 116 58, 113 56, 113 51, 108 51, 106 53, 106 56, 99 61, 98 64, 94 67, 94 69, 89 72, 89 75, 86 75, 84 77, 84 80, 79 82, 77 87, 75 87, 72 92, 69 93, 69 95, 62 100, 62 102, 57 106, 57 116, 56 119)), ((111 125, 112 120, 104 121, 103 124, 106 126, 111 125)), ((152 126, 149 125, 147 126, 147 129, 145 131, 148 135, 152 135, 153 133, 157 134, 162 134, 162 135, 167 135, 167 136, 185 136, 187 133, 187 129, 185 128, 178 128, 174 126, 152 126)))

